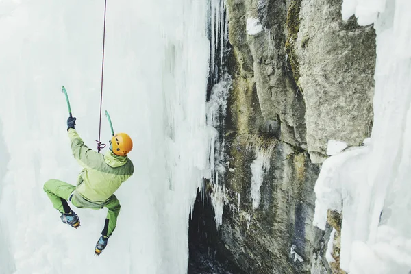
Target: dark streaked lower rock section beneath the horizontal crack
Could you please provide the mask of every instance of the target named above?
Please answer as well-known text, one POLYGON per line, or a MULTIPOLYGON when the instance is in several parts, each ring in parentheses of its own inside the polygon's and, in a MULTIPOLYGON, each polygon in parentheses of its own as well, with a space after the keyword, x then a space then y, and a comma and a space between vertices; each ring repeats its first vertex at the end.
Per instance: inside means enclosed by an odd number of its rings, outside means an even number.
MULTIPOLYGON (((236 173, 229 173, 225 187, 239 193, 240 211, 226 212, 221 240, 228 258, 247 273, 305 273, 311 269, 314 251, 321 248, 322 234, 313 227, 314 183, 319 166, 310 163, 306 152, 297 152, 284 142, 264 142, 256 136, 238 136, 230 162, 236 173), (255 149, 273 147, 270 169, 264 174, 258 208, 251 205, 251 169, 255 149), (237 151, 237 150, 236 150, 237 151), (290 248, 303 258, 295 261, 290 248)), ((237 204, 232 195, 231 203, 237 204)), ((227 208, 227 211, 229 209, 227 208)))

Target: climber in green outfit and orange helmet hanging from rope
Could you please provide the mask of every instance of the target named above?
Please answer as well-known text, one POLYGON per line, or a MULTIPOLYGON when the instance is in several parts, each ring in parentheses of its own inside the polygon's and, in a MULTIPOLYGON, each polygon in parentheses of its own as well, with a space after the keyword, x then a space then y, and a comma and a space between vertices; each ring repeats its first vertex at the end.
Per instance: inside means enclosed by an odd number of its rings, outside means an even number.
POLYGON ((77 179, 77 186, 51 179, 45 183, 43 189, 54 208, 62 214, 62 222, 76 229, 80 220, 67 201, 71 201, 77 208, 108 208, 104 229, 95 247, 95 254, 98 256, 107 246, 108 238, 116 228, 120 203, 114 192, 134 172, 133 163, 127 157, 127 153, 133 149, 133 142, 125 133, 115 134, 110 141, 110 150, 102 155, 84 145, 75 130, 75 120, 75 117, 67 120, 67 131, 73 156, 84 168, 77 179))

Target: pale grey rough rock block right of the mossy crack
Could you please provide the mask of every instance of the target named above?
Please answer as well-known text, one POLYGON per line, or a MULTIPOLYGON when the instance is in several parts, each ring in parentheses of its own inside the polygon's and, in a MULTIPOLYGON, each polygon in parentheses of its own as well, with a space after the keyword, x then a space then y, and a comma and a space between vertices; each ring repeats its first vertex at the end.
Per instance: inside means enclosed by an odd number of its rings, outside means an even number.
POLYGON ((353 146, 371 134, 375 31, 355 18, 343 21, 341 2, 302 1, 294 44, 314 162, 325 159, 328 140, 353 146))

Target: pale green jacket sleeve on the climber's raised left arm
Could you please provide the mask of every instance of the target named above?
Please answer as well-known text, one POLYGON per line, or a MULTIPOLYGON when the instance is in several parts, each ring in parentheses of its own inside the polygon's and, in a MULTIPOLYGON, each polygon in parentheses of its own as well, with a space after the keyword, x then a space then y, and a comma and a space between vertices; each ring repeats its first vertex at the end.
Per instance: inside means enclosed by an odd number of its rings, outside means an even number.
POLYGON ((75 160, 83 167, 90 166, 90 162, 94 162, 99 157, 99 153, 93 151, 86 145, 75 129, 69 129, 69 138, 71 142, 71 152, 75 160))

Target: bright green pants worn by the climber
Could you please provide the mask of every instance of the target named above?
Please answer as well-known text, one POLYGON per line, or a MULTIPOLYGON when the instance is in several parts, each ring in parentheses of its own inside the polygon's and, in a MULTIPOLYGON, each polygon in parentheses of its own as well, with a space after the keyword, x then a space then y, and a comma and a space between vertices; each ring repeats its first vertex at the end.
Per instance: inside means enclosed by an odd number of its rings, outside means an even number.
MULTIPOLYGON (((66 207, 69 207, 66 201, 69 201, 69 197, 75 190, 75 186, 56 179, 51 179, 45 182, 43 189, 47 193, 47 196, 49 196, 54 208, 63 214, 67 210, 66 207)), ((73 198, 71 199, 71 203, 77 208, 84 208, 84 206, 80 206, 80 203, 76 202, 73 198)), ((101 209, 103 207, 108 208, 108 212, 107 218, 105 219, 104 229, 101 234, 103 234, 103 236, 111 236, 114 229, 116 229, 117 216, 119 216, 121 208, 120 202, 115 195, 112 195, 103 205, 96 205, 95 207, 88 208, 101 209)))

